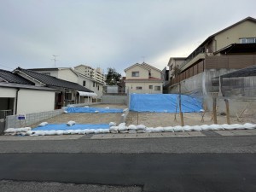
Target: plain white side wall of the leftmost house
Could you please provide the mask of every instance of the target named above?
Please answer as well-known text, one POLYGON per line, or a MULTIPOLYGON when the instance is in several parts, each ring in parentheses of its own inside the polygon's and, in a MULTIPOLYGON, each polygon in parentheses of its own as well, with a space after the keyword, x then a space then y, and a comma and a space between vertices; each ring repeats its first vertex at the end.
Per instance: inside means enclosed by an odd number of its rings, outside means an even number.
POLYGON ((55 109, 55 92, 46 90, 20 90, 18 114, 38 113, 55 109))

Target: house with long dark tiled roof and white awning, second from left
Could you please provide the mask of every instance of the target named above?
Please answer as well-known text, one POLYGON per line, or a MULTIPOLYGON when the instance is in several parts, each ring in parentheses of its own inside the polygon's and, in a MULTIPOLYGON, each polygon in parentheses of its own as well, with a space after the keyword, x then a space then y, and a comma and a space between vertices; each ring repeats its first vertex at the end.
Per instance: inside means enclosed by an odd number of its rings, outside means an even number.
POLYGON ((55 92, 55 109, 67 106, 68 104, 92 102, 92 96, 96 96, 93 91, 79 84, 57 79, 48 74, 37 73, 20 67, 16 68, 14 73, 31 81, 38 87, 48 87, 57 90, 55 92))

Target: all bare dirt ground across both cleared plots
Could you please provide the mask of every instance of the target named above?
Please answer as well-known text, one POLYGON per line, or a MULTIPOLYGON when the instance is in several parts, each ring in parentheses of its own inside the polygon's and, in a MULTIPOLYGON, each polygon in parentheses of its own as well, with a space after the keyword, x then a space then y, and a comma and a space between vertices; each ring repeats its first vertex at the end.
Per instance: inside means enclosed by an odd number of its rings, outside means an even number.
MULTIPOLYGON (((125 105, 98 104, 91 106, 93 108, 127 108, 125 105)), ((180 124, 180 117, 177 113, 175 120, 174 113, 137 113, 130 112, 126 119, 126 125, 146 125, 148 127, 175 126, 180 124)), ((74 120, 77 124, 109 124, 109 122, 119 123, 121 113, 62 113, 54 118, 45 119, 49 124, 63 124, 69 120, 74 120)), ((212 125, 212 113, 205 113, 202 122, 201 113, 183 113, 184 125, 212 125)), ((226 124, 226 116, 218 114, 218 124, 226 124)), ((231 124, 256 123, 254 118, 241 118, 241 122, 236 118, 230 118, 231 124)), ((31 125, 32 128, 38 124, 31 125)))

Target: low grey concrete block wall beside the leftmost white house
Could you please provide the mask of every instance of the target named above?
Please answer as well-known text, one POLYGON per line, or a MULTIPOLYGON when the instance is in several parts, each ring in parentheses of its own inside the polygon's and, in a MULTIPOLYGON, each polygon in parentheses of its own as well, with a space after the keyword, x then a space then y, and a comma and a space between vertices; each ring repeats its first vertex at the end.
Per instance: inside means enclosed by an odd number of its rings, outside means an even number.
MULTIPOLYGON (((63 109, 58 109, 54 111, 40 112, 40 113, 29 113, 26 114, 26 126, 30 126, 32 124, 43 121, 44 119, 49 119, 55 117, 61 113, 63 113, 63 109)), ((18 115, 10 115, 6 117, 5 129, 7 128, 19 128, 21 126, 25 126, 24 120, 19 120, 18 115)))

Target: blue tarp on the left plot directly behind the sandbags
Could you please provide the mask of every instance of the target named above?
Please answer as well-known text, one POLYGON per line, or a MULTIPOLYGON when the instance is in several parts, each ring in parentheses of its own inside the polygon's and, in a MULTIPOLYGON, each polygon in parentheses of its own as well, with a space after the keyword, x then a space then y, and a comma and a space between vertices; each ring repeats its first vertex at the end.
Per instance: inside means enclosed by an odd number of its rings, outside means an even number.
POLYGON ((68 126, 66 124, 55 124, 55 125, 45 125, 45 126, 38 126, 32 131, 50 131, 50 130, 85 130, 85 129, 109 129, 108 124, 75 124, 72 126, 68 126))

